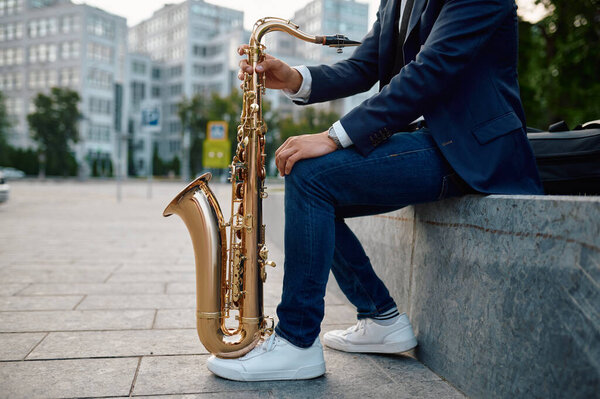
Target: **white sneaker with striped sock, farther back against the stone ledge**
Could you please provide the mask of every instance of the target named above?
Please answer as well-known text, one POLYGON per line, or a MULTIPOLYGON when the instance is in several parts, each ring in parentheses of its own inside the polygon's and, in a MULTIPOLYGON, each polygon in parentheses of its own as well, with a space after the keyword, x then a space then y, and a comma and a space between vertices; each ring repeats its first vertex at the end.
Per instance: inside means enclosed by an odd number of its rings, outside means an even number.
POLYGON ((373 319, 361 319, 347 330, 329 331, 323 343, 344 352, 400 353, 417 346, 417 339, 406 313, 394 324, 382 326, 373 319))

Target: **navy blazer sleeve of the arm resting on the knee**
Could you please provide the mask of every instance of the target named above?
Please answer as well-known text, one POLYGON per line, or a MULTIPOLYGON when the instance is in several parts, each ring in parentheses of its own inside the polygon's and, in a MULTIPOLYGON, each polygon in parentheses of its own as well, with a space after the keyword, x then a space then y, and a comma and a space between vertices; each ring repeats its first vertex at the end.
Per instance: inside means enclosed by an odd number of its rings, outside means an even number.
POLYGON ((426 113, 513 7, 513 0, 448 0, 416 60, 340 120, 357 150, 368 154, 382 142, 374 137, 389 137, 426 113))

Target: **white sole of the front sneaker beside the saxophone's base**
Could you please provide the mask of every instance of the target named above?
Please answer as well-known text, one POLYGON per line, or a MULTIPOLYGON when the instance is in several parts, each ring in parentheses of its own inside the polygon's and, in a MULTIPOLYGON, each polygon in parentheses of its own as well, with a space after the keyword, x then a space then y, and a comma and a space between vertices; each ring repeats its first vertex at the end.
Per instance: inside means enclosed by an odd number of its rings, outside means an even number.
POLYGON ((211 372, 219 377, 234 381, 308 380, 325 374, 325 363, 300 367, 295 370, 265 371, 262 373, 231 370, 216 364, 208 364, 207 366, 211 372))

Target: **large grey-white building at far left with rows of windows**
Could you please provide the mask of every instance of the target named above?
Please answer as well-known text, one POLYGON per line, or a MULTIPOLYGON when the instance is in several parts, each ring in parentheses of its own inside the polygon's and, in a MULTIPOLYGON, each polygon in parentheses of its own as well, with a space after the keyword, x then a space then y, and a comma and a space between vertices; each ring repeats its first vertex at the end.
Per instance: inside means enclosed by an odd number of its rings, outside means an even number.
POLYGON ((122 130, 127 24, 117 15, 69 0, 0 0, 0 90, 13 129, 9 140, 32 147, 27 114, 51 87, 81 96, 76 158, 83 174, 99 163, 116 165, 122 130))

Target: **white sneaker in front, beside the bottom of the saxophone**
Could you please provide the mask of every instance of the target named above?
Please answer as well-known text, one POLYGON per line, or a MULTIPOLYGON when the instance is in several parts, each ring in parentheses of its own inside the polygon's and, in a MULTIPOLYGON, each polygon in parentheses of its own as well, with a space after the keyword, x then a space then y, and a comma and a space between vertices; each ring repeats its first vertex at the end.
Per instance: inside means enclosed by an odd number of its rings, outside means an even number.
POLYGON ((213 355, 206 364, 219 377, 236 381, 305 380, 325 374, 319 338, 311 347, 299 348, 275 333, 240 358, 213 355))

